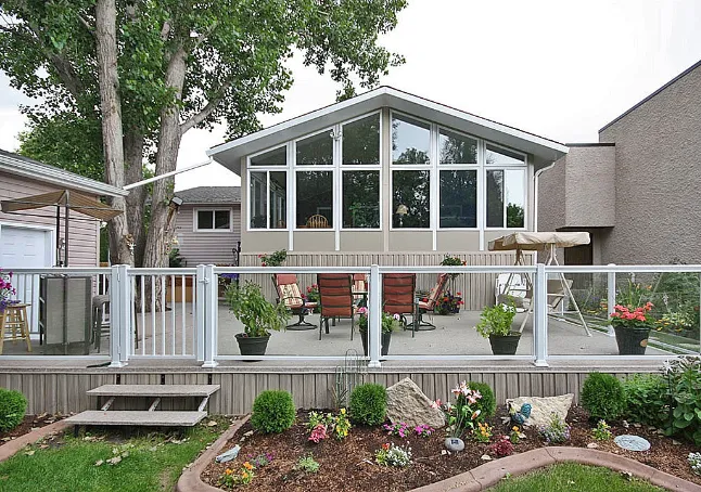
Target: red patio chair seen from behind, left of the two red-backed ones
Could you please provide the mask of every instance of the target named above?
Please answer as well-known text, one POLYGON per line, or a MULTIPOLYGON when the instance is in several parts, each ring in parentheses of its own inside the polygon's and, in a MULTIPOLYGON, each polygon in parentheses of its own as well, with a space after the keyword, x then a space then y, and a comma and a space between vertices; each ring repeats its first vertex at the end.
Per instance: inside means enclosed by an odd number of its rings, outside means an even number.
POLYGON ((326 326, 329 334, 329 319, 349 318, 351 339, 355 329, 355 302, 353 299, 353 281, 347 273, 319 273, 319 303, 321 305, 319 339, 321 339, 321 325, 326 326))

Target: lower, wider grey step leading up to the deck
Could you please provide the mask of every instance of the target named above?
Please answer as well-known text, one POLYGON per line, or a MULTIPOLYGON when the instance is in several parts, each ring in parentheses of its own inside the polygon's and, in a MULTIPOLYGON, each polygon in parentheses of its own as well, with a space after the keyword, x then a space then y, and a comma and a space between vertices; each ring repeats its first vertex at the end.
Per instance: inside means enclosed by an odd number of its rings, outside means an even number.
POLYGON ((145 410, 87 410, 66 418, 76 426, 167 426, 192 427, 207 416, 206 412, 149 412, 145 410))

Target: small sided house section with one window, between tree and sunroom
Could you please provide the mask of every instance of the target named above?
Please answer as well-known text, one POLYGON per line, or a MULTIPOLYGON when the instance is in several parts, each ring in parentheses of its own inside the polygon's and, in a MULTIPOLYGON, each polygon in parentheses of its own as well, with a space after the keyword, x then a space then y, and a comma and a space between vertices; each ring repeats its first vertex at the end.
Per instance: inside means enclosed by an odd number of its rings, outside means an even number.
POLYGON ((176 247, 186 264, 232 264, 241 241, 241 189, 200 186, 175 195, 182 199, 175 224, 176 247))

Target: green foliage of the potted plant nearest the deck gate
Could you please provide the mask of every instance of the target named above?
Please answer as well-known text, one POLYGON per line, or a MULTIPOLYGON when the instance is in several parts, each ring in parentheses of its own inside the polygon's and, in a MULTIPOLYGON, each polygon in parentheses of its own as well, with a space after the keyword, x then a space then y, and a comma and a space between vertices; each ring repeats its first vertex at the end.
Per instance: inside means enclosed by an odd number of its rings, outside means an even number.
POLYGON ((243 286, 231 283, 225 290, 229 310, 243 323, 248 337, 270 335, 270 329, 279 332, 290 319, 290 310, 283 302, 272 305, 267 301, 260 286, 247 281, 243 286))

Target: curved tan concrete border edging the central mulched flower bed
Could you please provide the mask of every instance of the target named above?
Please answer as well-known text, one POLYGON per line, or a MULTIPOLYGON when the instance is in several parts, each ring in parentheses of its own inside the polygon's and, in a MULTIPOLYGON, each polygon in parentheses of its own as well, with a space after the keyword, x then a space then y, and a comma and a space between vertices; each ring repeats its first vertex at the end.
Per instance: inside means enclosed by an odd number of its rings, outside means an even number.
MULTIPOLYGON (((182 474, 176 487, 177 492, 221 492, 204 483, 200 475, 209 465, 227 442, 248 420, 246 415, 237 420, 217 439, 208 450, 182 474)), ((683 492, 701 492, 701 485, 684 480, 674 475, 660 471, 640 462, 606 451, 572 446, 545 446, 524 453, 494 459, 469 471, 456 475, 439 482, 413 489, 411 492, 477 492, 496 485, 509 474, 511 477, 527 474, 538 468, 560 463, 579 463, 583 465, 602 466, 614 471, 625 471, 647 480, 653 485, 666 490, 683 492)))

